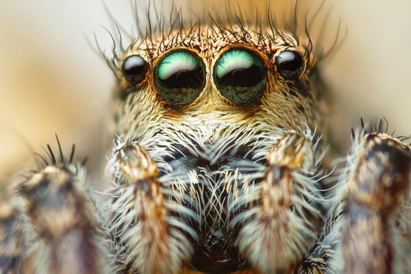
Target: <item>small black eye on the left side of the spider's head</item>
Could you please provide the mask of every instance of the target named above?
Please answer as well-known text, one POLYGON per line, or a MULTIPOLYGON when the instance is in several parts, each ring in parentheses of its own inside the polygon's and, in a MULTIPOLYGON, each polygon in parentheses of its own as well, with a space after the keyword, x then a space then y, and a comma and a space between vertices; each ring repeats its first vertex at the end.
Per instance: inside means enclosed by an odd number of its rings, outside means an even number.
POLYGON ((147 71, 149 71, 149 63, 140 55, 125 58, 121 68, 125 81, 132 85, 140 84, 145 79, 147 71))

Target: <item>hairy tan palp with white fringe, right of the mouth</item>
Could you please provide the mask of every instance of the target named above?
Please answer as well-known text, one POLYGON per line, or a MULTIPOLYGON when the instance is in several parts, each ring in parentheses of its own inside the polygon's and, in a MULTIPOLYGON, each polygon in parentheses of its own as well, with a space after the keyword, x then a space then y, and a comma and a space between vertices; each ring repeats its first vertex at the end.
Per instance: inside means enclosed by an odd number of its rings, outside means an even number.
POLYGON ((241 227, 236 243, 256 271, 292 273, 319 235, 323 198, 315 146, 309 134, 284 134, 266 154, 267 164, 256 163, 260 178, 234 199, 231 211, 240 213, 232 225, 241 227))

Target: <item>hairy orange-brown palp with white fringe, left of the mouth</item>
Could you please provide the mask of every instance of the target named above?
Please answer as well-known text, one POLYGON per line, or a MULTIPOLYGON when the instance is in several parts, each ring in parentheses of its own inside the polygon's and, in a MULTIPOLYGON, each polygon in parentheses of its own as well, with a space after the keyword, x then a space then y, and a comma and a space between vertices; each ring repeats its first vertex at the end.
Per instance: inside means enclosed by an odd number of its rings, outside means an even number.
POLYGON ((137 142, 114 149, 108 169, 114 184, 108 223, 118 250, 116 271, 179 273, 195 237, 183 221, 193 213, 182 206, 182 192, 171 190, 173 182, 160 182, 158 163, 137 142))

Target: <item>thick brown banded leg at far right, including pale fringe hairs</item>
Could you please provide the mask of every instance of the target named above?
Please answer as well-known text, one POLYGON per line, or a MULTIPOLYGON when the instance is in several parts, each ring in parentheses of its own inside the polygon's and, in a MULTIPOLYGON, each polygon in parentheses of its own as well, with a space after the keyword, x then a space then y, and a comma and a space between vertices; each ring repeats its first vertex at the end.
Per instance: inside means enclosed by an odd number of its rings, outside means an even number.
POLYGON ((307 272, 315 266, 323 273, 408 273, 410 145, 388 134, 355 135, 307 272))

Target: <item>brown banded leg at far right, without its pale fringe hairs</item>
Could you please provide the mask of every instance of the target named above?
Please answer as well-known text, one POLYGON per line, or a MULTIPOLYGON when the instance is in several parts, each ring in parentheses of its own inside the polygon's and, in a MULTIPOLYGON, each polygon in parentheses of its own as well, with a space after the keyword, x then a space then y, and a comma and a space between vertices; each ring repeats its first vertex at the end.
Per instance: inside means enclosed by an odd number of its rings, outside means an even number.
POLYGON ((410 271, 403 269, 411 254, 402 250, 406 238, 397 228, 410 185, 410 147, 386 134, 364 136, 343 194, 336 254, 343 273, 410 271))

